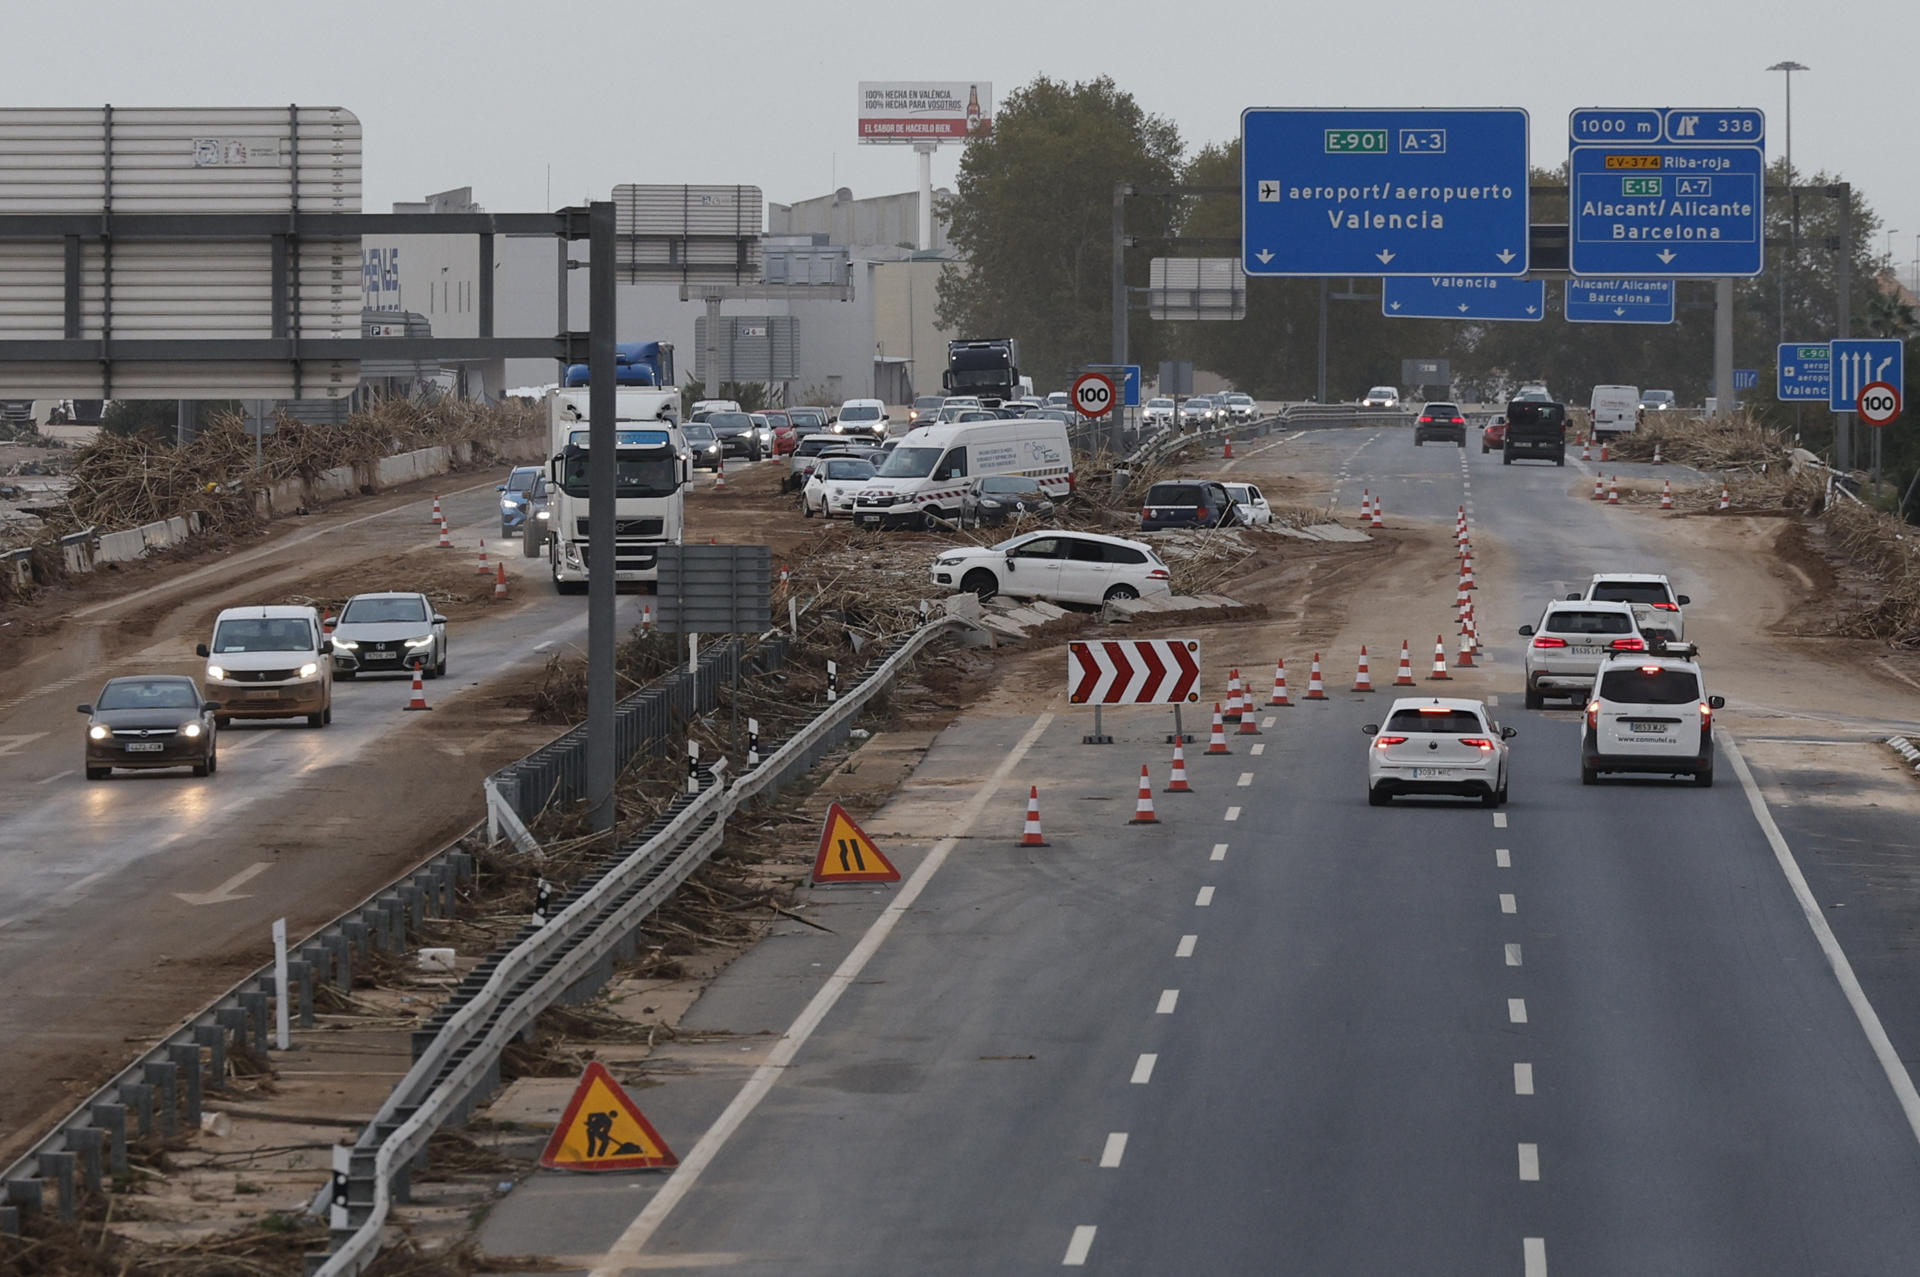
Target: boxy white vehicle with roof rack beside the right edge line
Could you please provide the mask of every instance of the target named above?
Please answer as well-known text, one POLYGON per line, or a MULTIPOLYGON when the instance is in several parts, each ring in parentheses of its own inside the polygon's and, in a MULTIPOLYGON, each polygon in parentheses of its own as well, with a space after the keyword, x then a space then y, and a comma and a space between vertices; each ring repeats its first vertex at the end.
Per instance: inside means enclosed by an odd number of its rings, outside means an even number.
POLYGON ((1601 772, 1655 772, 1711 785, 1713 711, 1724 707, 1726 697, 1707 695, 1686 645, 1657 657, 1609 657, 1580 724, 1580 783, 1592 785, 1601 772))

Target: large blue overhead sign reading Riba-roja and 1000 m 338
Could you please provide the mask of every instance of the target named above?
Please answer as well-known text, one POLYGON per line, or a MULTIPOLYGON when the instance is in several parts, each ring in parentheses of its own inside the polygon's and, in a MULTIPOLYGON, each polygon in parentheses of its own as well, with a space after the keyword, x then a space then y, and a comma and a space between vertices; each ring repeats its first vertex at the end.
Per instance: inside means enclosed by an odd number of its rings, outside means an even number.
POLYGON ((1759 275, 1766 121, 1738 109, 1580 109, 1567 125, 1574 275, 1759 275))

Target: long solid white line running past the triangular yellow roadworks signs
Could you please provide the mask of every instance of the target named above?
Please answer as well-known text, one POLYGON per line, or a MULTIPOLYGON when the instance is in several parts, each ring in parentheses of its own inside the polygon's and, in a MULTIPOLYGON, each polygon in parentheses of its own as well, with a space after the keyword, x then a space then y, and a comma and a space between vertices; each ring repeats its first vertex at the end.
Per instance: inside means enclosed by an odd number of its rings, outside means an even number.
MULTIPOLYGON (((900 893, 887 904, 879 918, 868 926, 860 943, 852 947, 852 952, 841 960, 833 976, 828 977, 812 1000, 806 1002, 801 1016, 787 1027, 785 1035, 774 1043, 774 1048, 766 1054, 766 1064, 753 1072, 747 1085, 739 1089, 739 1095, 733 1096, 720 1118, 707 1127, 707 1133, 701 1135, 699 1143, 693 1144, 693 1150, 685 1156, 685 1160, 682 1160, 674 1173, 668 1175, 666 1183, 660 1185, 660 1191, 653 1194, 637 1216, 634 1216, 634 1221, 626 1225, 626 1231, 620 1233, 612 1246, 607 1248, 607 1254, 593 1264, 589 1277, 618 1277, 622 1269, 634 1267, 636 1260, 639 1260, 639 1252, 647 1248, 647 1242, 659 1231, 660 1223, 666 1221, 666 1216, 672 1214, 674 1206, 678 1206, 680 1200, 693 1191, 701 1173, 716 1156, 720 1156, 720 1148, 726 1146, 728 1139, 733 1137, 747 1116, 760 1104, 760 1100, 766 1098, 768 1091, 774 1089, 774 1083, 780 1081, 780 1075, 793 1064, 793 1058, 801 1052, 801 1047, 806 1045, 806 1039, 814 1035, 814 1029, 818 1029, 820 1022, 828 1018, 828 1012, 831 1012, 835 1002, 841 1000, 841 995, 847 993, 847 989, 851 989, 860 977, 860 972, 864 972, 866 964, 872 962, 876 952, 879 952, 879 947, 893 933, 893 928, 899 926, 900 918, 906 916, 906 910, 910 910, 920 899, 920 893, 925 891, 929 881, 933 881, 933 876, 947 862, 947 856, 952 855, 952 849, 958 847, 960 839, 973 828, 973 822, 979 820, 987 803, 998 795, 1000 785, 1006 783, 1006 778, 1016 766, 1020 766, 1020 760, 1027 757, 1027 751, 1033 749, 1033 743, 1041 739, 1041 734, 1046 732, 1052 720, 1052 714, 1041 714, 1035 718, 1025 735, 1021 735, 1006 757, 1000 759, 1000 766, 993 768, 993 774, 981 782, 979 789, 973 791, 973 797, 968 799, 968 805, 960 808, 952 833, 933 845, 933 851, 929 851, 927 858, 920 862, 914 876, 906 879, 900 893)), ((1075 1239, 1079 1235, 1075 1233, 1075 1239)), ((1087 1241, 1089 1244, 1092 1242, 1091 1227, 1087 1229, 1087 1241)))

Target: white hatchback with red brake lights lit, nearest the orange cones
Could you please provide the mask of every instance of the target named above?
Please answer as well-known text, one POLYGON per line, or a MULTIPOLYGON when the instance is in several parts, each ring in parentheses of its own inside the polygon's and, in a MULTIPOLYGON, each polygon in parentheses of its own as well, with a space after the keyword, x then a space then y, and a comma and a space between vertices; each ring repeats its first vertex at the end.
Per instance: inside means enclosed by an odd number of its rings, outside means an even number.
POLYGON ((1486 716, 1484 701, 1400 697, 1386 722, 1361 728, 1367 747, 1367 803, 1386 807, 1398 793, 1452 793, 1507 801, 1507 741, 1513 728, 1486 716))

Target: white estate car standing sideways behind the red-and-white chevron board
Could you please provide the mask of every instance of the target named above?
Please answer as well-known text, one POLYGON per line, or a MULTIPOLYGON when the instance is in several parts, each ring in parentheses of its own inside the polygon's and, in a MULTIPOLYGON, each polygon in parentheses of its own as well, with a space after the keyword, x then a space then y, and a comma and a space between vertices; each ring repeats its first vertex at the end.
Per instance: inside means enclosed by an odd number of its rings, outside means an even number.
POLYGON ((998 545, 956 545, 933 561, 933 584, 983 599, 1108 603, 1173 593, 1152 545, 1098 532, 1027 532, 998 545))

